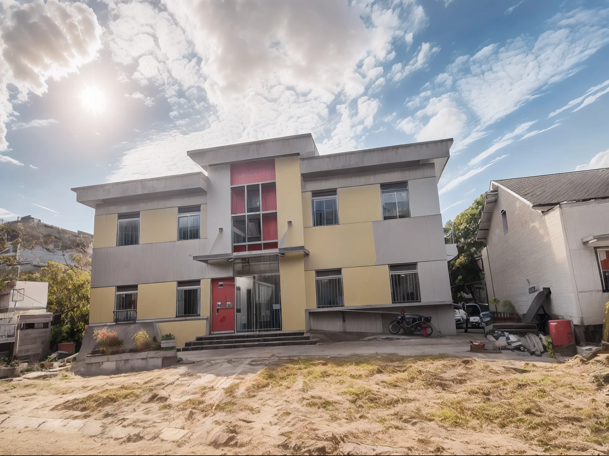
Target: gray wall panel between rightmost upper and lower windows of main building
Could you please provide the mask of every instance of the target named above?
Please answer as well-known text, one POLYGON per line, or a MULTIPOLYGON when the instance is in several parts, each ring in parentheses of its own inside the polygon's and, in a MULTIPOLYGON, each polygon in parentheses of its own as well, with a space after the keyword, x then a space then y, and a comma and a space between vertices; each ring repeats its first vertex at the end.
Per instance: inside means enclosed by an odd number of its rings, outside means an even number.
POLYGON ((376 263, 446 261, 442 215, 372 222, 376 263))

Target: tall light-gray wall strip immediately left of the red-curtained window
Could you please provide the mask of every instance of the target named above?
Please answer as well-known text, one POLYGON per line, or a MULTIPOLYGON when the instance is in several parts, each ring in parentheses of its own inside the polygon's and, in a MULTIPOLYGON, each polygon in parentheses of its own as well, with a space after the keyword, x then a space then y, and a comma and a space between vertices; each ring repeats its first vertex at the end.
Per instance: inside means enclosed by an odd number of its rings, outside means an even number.
POLYGON ((207 203, 209 251, 200 255, 231 252, 230 204, 230 165, 209 167, 207 203))

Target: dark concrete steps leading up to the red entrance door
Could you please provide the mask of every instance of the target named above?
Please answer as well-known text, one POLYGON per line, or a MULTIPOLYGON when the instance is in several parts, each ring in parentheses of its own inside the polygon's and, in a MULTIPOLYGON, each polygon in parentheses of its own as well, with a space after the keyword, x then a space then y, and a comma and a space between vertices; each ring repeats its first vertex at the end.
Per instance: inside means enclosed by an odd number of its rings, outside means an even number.
POLYGON ((227 348, 282 347, 284 345, 315 345, 305 331, 273 331, 269 333, 227 333, 197 336, 178 351, 224 350, 227 348))

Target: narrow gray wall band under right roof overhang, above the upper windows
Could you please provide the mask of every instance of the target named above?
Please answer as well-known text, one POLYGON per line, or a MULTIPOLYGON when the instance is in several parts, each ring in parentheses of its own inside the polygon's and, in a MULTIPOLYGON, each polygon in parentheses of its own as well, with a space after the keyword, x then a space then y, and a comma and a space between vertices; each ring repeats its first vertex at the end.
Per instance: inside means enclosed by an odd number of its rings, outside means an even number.
MULTIPOLYGON (((423 164, 407 168, 368 171, 365 173, 343 174, 327 178, 304 179, 303 192, 325 190, 326 188, 357 187, 358 185, 390 184, 410 181, 410 179, 435 178, 433 164, 423 164)), ((437 195, 437 190, 436 190, 437 195)))

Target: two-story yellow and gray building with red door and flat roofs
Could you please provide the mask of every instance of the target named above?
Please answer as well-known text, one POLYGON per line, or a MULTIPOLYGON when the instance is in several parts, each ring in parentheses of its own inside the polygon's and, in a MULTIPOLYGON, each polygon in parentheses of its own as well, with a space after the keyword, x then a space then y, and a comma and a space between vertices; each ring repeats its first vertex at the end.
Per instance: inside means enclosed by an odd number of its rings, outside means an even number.
POLYGON ((452 139, 320 155, 311 134, 188 152, 203 172, 74 188, 95 209, 91 325, 178 336, 454 334, 437 181, 452 139))

